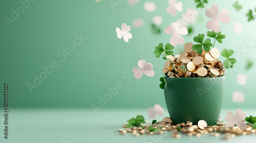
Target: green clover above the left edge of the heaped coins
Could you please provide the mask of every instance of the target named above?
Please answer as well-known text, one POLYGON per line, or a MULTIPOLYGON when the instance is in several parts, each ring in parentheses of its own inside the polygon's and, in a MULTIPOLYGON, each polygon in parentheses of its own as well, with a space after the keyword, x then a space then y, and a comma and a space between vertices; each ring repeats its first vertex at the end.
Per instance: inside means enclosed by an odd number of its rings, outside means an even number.
POLYGON ((165 52, 165 58, 168 55, 173 55, 174 52, 172 51, 174 49, 174 46, 170 45, 169 43, 165 44, 165 47, 163 49, 163 44, 160 43, 158 46, 155 47, 154 54, 156 54, 156 57, 159 58, 163 52, 165 52))

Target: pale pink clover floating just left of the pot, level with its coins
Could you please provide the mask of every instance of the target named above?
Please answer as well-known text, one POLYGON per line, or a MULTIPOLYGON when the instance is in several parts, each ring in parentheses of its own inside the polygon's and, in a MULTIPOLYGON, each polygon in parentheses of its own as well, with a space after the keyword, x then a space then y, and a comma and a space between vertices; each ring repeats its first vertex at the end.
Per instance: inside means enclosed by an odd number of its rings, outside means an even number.
POLYGON ((139 60, 138 66, 140 67, 140 69, 138 67, 133 68, 133 74, 136 79, 140 79, 143 73, 148 77, 153 77, 155 75, 152 63, 146 63, 145 60, 139 60))

